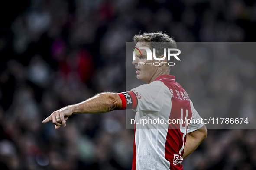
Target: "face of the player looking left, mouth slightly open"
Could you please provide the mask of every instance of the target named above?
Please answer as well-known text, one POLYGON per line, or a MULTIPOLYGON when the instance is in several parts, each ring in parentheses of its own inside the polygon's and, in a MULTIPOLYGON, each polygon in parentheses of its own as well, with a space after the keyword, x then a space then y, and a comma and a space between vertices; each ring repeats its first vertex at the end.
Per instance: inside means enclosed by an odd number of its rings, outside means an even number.
MULTIPOLYGON (((149 47, 149 46, 147 46, 145 42, 138 42, 135 47, 139 48, 139 47, 149 47)), ((136 71, 137 79, 140 79, 149 84, 152 80, 152 77, 156 74, 158 66, 154 66, 152 64, 154 62, 153 57, 152 57, 152 60, 147 60, 147 53, 145 49, 139 49, 139 50, 141 51, 142 56, 136 53, 135 60, 133 60, 133 64, 137 69, 136 71), (142 64, 139 62, 143 62, 145 64, 142 64)))

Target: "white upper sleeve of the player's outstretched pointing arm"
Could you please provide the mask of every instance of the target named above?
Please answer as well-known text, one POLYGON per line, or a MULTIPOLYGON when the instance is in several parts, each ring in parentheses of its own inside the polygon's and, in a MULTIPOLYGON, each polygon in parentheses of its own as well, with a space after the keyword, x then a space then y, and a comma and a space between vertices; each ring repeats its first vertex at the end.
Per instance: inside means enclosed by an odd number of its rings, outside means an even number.
POLYGON ((143 111, 144 113, 158 113, 162 109, 163 99, 161 94, 163 93, 163 83, 155 81, 149 85, 141 85, 132 89, 135 93, 138 104, 135 112, 143 111))

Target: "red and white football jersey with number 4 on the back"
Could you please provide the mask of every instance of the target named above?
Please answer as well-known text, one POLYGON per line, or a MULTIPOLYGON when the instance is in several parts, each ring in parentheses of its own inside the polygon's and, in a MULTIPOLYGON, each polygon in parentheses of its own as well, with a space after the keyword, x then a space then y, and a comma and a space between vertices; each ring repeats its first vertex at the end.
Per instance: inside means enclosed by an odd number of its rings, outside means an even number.
POLYGON ((132 170, 182 170, 186 134, 204 124, 185 121, 201 117, 175 76, 159 76, 119 95, 123 109, 136 112, 132 170))

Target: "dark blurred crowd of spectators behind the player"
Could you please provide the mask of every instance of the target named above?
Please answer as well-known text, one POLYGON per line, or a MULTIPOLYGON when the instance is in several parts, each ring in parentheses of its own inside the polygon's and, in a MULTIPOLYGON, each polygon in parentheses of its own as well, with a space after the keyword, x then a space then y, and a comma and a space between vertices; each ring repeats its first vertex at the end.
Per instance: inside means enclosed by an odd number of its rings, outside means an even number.
MULTIPOLYGON (((188 42, 256 38, 250 0, 10 0, 0 14, 1 170, 131 169, 125 111, 74 115, 58 130, 42 120, 99 92, 126 91, 126 41, 139 31, 188 42)), ((173 69, 199 113, 253 120, 254 56, 194 56, 173 69)), ((183 166, 253 170, 255 144, 255 129, 208 129, 183 166)))

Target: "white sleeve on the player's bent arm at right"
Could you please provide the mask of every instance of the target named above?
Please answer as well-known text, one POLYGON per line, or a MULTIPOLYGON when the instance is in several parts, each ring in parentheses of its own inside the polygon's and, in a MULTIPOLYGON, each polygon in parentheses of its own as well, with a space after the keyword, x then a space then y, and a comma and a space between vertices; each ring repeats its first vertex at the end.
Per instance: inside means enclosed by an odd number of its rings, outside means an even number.
POLYGON ((188 125, 188 130, 187 133, 190 132, 194 132, 195 130, 200 129, 201 127, 204 126, 204 123, 201 122, 201 117, 199 116, 197 110, 195 110, 194 105, 192 103, 192 101, 190 100, 190 107, 191 107, 191 111, 192 111, 192 120, 191 123, 188 125), (200 120, 200 123, 196 123, 196 120, 200 120))

